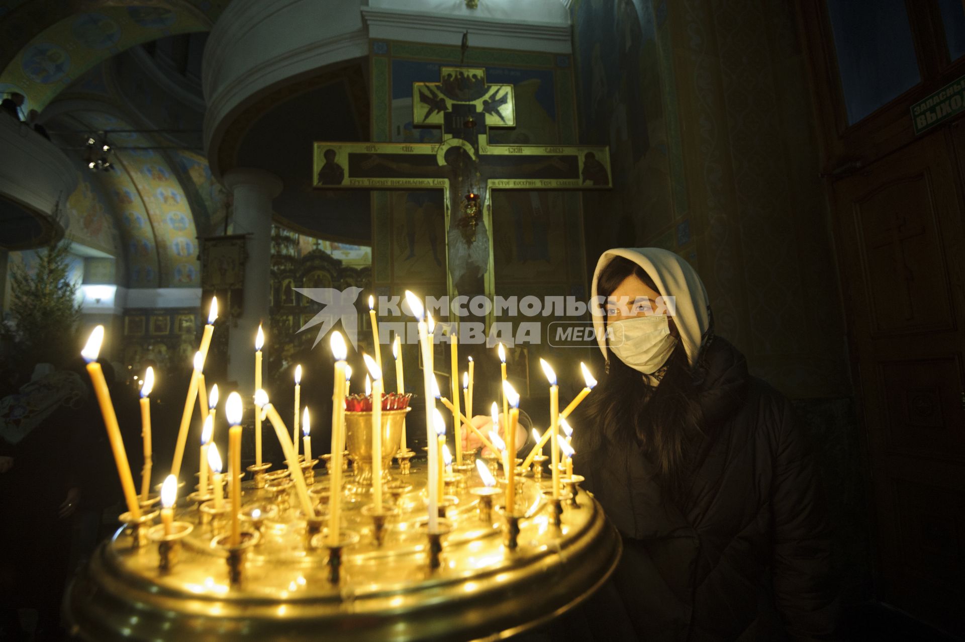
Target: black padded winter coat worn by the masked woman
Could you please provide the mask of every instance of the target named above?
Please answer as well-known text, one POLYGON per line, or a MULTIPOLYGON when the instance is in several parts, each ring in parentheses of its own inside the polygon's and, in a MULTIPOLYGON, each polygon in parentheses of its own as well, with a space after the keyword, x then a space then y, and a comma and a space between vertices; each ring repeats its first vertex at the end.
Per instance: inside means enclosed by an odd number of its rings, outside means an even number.
POLYGON ((623 540, 618 570, 580 611, 601 640, 837 639, 830 525, 806 435, 729 342, 714 338, 706 364, 706 436, 684 505, 662 504, 647 457, 611 441, 613 465, 578 471, 623 540))

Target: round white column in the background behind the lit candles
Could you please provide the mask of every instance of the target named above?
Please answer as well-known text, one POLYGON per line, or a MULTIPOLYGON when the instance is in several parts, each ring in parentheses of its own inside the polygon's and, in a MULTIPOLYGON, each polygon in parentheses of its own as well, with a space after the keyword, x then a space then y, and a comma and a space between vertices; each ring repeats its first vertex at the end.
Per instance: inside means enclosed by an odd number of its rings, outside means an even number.
MULTIPOLYGON (((234 234, 248 235, 244 266, 244 310, 229 331, 228 377, 237 381, 242 397, 254 394, 255 334, 268 324, 271 278, 271 201, 282 191, 282 180, 260 169, 236 168, 222 180, 232 192, 234 234)), ((275 349, 270 336, 266 349, 275 349)))

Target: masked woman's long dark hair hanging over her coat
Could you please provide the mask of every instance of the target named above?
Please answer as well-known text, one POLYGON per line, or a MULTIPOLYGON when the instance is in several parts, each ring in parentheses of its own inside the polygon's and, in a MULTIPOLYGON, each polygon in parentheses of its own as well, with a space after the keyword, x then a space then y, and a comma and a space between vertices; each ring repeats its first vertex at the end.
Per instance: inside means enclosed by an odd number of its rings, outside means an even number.
MULTIPOLYGON (((622 257, 603 268, 596 293, 611 295, 631 275, 659 293, 644 268, 622 257)), ((655 466, 663 496, 679 506, 689 488, 693 447, 703 435, 698 382, 683 343, 678 341, 667 358, 665 373, 656 387, 648 386, 643 375, 620 361, 612 350, 608 352, 606 374, 579 408, 580 425, 590 430, 574 432, 577 453, 591 469, 599 469, 607 465, 609 457, 603 448, 605 440, 620 448, 635 446, 631 453, 639 448, 655 466)))

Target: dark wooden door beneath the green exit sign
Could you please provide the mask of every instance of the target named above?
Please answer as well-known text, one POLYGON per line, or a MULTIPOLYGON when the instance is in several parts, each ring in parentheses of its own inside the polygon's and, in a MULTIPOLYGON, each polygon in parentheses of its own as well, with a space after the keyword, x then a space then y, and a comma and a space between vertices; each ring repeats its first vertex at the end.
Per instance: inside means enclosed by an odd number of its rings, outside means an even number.
MULTIPOLYGON (((957 129, 958 127, 953 127, 957 129)), ((833 183, 882 600, 965 632, 965 229, 943 128, 833 183)))

